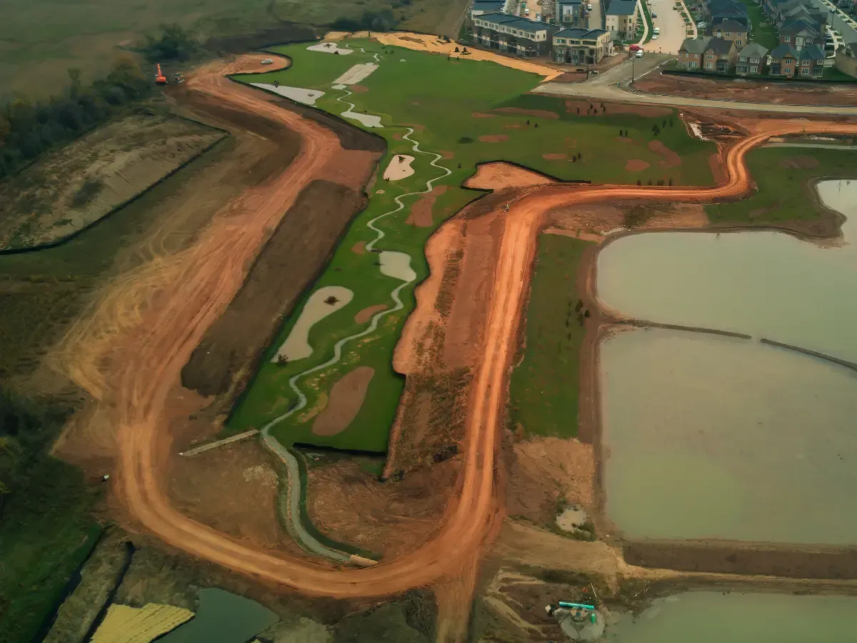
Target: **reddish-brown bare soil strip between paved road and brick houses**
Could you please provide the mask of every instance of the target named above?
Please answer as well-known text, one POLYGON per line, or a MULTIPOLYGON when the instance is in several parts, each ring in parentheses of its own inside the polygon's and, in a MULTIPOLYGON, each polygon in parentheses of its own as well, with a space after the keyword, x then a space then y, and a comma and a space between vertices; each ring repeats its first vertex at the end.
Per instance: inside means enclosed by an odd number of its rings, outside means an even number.
POLYGON ((650 74, 634 82, 641 92, 666 93, 692 98, 758 101, 779 105, 857 105, 857 87, 852 84, 815 82, 766 83, 727 81, 693 76, 650 74))

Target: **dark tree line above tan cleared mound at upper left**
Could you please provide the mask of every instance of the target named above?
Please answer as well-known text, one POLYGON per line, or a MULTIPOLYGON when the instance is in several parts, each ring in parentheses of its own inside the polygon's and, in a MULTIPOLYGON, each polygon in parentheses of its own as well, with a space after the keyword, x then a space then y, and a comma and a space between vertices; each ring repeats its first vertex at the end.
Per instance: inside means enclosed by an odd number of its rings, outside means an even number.
POLYGON ((0 105, 0 179, 51 147, 104 123, 117 109, 151 91, 151 79, 130 57, 121 57, 110 74, 91 85, 81 83, 80 69, 69 69, 69 86, 62 94, 35 103, 16 98, 0 105))

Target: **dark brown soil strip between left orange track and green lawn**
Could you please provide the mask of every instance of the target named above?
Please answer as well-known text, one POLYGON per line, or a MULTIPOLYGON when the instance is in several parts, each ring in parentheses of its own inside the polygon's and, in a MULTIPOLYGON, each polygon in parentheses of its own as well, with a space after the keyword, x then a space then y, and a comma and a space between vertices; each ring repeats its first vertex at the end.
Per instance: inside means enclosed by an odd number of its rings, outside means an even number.
MULTIPOLYGON (((372 157, 367 155, 364 177, 372 157)), ((203 395, 243 388, 260 346, 267 346, 336 248, 351 218, 365 206, 356 189, 316 180, 298 195, 261 250, 241 291, 182 370, 182 382, 203 395), (307 225, 307 221, 314 225, 307 225)), ((231 397, 231 396, 230 396, 231 397)))

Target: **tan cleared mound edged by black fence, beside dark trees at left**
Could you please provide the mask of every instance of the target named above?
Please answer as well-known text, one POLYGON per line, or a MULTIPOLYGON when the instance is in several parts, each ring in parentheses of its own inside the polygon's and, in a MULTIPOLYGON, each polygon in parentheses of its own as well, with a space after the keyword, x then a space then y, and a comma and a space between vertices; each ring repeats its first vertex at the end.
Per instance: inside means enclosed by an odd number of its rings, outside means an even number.
POLYGON ((172 116, 129 116, 96 129, 0 183, 0 252, 80 233, 224 136, 172 116))

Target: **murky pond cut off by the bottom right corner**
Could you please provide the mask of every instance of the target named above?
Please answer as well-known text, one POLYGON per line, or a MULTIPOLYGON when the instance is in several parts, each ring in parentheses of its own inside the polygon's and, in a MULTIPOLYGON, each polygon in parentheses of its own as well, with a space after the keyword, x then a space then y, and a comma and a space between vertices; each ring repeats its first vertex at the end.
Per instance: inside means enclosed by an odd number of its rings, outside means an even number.
POLYGON ((842 643, 854 640, 857 598, 685 592, 608 627, 611 643, 842 643))

